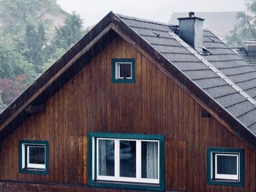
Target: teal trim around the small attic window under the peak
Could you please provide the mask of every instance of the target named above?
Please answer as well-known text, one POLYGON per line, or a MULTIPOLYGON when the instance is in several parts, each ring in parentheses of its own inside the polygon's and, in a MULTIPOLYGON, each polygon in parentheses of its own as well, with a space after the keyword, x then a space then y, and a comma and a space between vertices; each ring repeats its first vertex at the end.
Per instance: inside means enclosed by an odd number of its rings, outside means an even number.
POLYGON ((113 83, 135 83, 135 58, 113 58, 112 59, 112 82, 113 83), (117 79, 116 78, 116 63, 127 62, 131 63, 132 78, 131 79, 117 79))

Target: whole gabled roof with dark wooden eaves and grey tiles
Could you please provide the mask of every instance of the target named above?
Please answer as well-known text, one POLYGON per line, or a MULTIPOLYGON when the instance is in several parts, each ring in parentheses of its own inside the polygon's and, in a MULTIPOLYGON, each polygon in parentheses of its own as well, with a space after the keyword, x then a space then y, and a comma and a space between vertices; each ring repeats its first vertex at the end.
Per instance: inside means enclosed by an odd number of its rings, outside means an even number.
MULTIPOLYGON (((169 32, 175 26, 115 15, 110 12, 83 39, 56 61, 0 115, 0 139, 7 137, 20 120, 29 115, 31 104, 47 101, 86 65, 116 35, 129 38, 154 58, 191 93, 225 120, 239 139, 256 151, 256 107, 225 80, 209 69, 169 32), (78 58, 83 62, 78 62, 78 58), (21 118, 19 118, 21 117, 21 118)), ((211 31, 203 31, 203 46, 212 54, 203 55, 243 91, 256 97, 256 71, 211 31)))

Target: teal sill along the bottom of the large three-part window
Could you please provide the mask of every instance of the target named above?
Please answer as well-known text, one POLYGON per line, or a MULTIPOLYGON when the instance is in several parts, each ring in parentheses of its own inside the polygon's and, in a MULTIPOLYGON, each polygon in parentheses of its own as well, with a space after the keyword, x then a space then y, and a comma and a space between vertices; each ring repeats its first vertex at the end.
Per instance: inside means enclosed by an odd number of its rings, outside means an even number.
POLYGON ((128 182, 115 182, 97 180, 89 183, 91 187, 103 187, 103 188, 122 188, 122 189, 139 189, 139 190, 151 190, 151 191, 164 191, 164 186, 159 184, 150 183, 128 183, 128 182))

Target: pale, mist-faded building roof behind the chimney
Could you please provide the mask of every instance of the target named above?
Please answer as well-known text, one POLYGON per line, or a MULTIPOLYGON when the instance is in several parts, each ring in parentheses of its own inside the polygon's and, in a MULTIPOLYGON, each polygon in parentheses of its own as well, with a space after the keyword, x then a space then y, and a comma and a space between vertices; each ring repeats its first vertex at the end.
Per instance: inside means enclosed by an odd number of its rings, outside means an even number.
MULTIPOLYGON (((210 29, 222 41, 237 23, 237 14, 238 12, 195 12, 195 16, 205 19, 204 28, 210 29)), ((173 12, 168 23, 178 25, 177 18, 184 17, 187 17, 187 12, 173 12)))

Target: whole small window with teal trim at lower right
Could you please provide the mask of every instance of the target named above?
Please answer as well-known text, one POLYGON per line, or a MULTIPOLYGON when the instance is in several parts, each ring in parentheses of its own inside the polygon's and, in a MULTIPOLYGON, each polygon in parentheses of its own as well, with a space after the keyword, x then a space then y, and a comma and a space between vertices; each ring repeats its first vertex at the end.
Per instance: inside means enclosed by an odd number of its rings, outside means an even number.
POLYGON ((207 149, 207 181, 210 185, 244 185, 244 151, 207 149))

